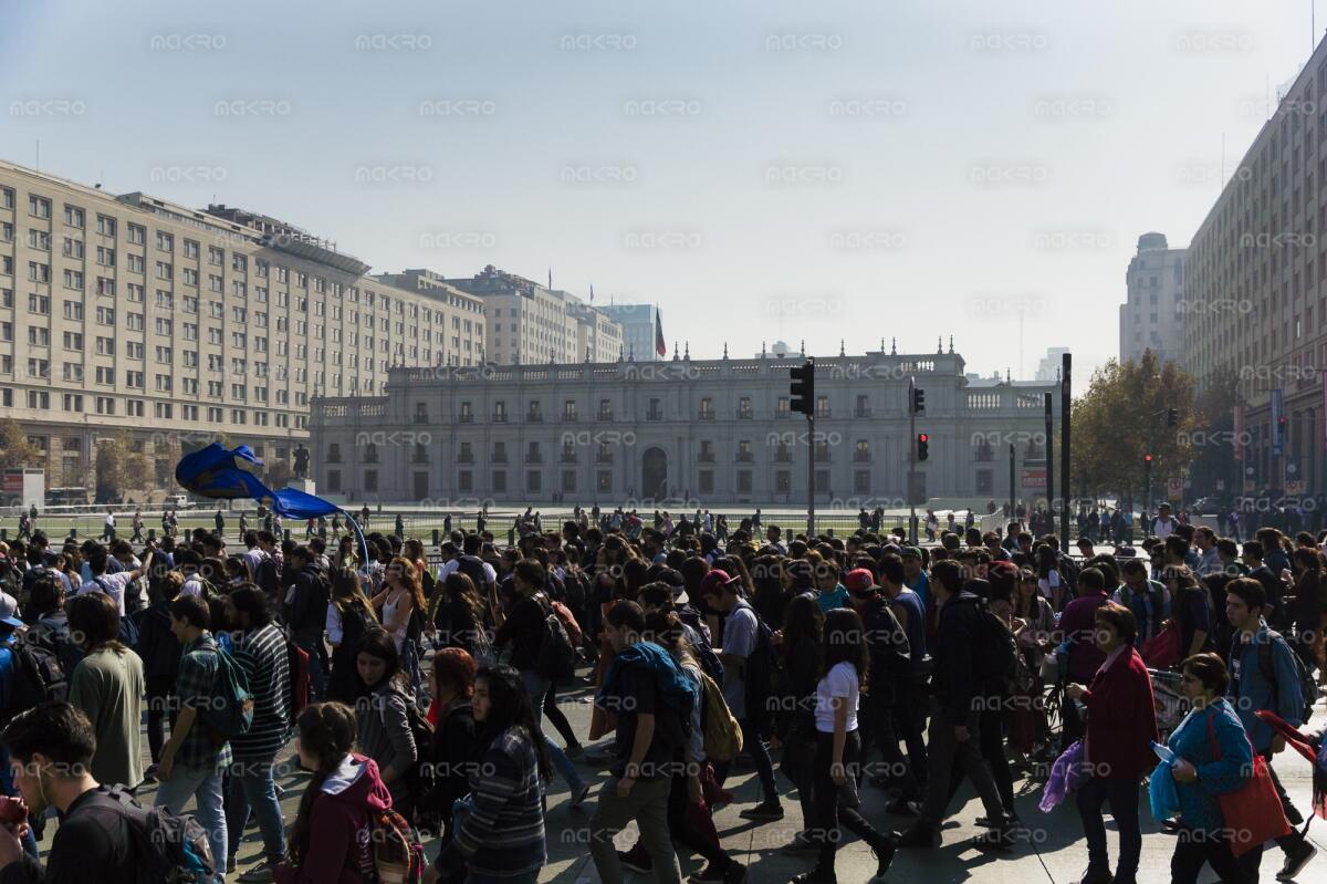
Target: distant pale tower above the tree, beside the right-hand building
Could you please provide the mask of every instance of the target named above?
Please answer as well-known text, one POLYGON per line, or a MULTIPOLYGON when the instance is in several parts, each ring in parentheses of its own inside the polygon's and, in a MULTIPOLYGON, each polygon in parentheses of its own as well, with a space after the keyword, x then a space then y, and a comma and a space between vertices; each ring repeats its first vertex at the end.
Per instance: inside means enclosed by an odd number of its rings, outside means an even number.
POLYGON ((1120 361, 1136 362, 1152 350, 1165 362, 1182 362, 1185 250, 1170 248, 1165 234, 1139 236, 1129 261, 1128 295, 1120 305, 1120 361))

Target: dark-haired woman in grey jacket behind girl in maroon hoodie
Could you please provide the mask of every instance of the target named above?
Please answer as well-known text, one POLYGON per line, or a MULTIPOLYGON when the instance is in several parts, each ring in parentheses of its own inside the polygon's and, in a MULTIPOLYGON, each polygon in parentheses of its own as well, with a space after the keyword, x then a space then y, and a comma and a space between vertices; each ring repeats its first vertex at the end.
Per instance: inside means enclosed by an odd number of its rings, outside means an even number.
POLYGON ((410 729, 410 706, 415 698, 401 670, 395 641, 385 629, 372 629, 361 641, 356 656, 360 694, 356 701, 360 750, 378 762, 382 782, 391 792, 391 804, 409 816, 410 790, 406 774, 419 758, 414 731, 410 729))

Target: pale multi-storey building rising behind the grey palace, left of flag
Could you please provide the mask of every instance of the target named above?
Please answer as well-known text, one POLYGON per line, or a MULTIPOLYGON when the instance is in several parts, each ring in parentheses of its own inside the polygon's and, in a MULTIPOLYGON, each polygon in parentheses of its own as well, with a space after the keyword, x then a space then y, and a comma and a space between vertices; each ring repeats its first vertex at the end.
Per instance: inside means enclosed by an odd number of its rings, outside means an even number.
POLYGON ((385 279, 419 291, 443 287, 480 299, 487 319, 486 358, 496 365, 612 362, 624 356, 622 327, 597 307, 492 264, 470 277, 407 269, 385 279))

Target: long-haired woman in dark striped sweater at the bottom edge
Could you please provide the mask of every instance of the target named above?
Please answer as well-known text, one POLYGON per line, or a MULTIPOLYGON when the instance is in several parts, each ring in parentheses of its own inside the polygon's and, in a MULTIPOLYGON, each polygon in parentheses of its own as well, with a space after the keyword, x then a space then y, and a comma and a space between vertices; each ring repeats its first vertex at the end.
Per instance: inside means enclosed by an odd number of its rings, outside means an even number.
POLYGON ((470 796, 425 884, 536 884, 547 859, 543 786, 552 770, 520 673, 482 666, 471 706, 479 763, 470 767, 470 796))

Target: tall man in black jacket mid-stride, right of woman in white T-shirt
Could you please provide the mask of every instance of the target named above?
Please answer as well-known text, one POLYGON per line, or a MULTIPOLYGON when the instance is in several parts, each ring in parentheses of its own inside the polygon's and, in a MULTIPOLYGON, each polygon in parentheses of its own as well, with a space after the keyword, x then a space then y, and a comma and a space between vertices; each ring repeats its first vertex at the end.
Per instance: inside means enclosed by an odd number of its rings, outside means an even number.
POLYGON ((982 680, 977 670, 979 600, 970 592, 962 592, 963 575, 957 561, 938 561, 930 573, 938 609, 936 640, 930 645, 934 665, 934 696, 926 739, 930 773, 920 818, 904 832, 900 847, 940 846, 940 827, 949 806, 949 780, 954 765, 961 765, 977 787, 986 808, 986 819, 998 820, 990 831, 974 839, 974 846, 1005 847, 1010 842, 1005 807, 979 749, 978 721, 983 700, 982 680))

